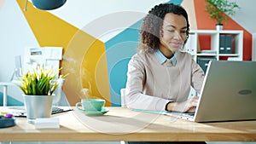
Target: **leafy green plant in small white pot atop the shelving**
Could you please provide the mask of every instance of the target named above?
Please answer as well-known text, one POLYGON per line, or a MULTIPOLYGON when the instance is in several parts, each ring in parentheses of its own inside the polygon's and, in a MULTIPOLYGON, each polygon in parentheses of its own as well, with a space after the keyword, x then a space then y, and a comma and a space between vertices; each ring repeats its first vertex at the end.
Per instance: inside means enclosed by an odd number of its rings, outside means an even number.
POLYGON ((228 0, 205 0, 206 9, 209 17, 217 21, 217 29, 222 30, 223 22, 226 23, 228 17, 226 14, 232 16, 236 14, 236 9, 240 9, 236 2, 229 2, 228 0))

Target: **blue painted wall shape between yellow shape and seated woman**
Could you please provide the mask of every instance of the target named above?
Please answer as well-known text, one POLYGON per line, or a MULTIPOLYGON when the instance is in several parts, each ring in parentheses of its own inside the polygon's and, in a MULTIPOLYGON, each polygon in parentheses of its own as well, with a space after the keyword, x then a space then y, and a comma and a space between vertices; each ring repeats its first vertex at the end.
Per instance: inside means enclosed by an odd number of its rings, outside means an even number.
POLYGON ((131 56, 137 53, 139 30, 143 20, 126 28, 105 43, 108 61, 108 78, 111 105, 121 106, 120 89, 125 88, 127 65, 131 56))

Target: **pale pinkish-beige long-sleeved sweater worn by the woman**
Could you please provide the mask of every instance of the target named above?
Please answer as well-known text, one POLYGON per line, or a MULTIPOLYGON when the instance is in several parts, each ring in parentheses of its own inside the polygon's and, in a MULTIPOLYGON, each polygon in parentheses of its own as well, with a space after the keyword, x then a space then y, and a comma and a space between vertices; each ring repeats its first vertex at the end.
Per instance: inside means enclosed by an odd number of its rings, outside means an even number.
POLYGON ((177 51, 175 66, 168 59, 161 63, 154 53, 131 57, 125 88, 129 108, 164 111, 169 101, 186 101, 190 86, 201 90, 205 74, 189 53, 177 51))

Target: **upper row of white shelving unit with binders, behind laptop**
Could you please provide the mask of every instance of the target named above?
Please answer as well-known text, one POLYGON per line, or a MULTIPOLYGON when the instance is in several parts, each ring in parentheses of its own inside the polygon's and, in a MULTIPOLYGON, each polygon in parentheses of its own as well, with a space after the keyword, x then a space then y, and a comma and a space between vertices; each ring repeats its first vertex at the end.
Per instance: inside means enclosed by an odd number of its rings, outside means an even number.
POLYGON ((195 61, 197 61, 198 56, 215 56, 217 60, 220 57, 227 56, 236 60, 242 60, 242 45, 243 31, 191 30, 184 49, 193 55, 195 61), (215 53, 212 53, 212 51, 215 53), (228 54, 223 54, 225 51, 228 54), (230 52, 233 54, 230 54, 230 52))

